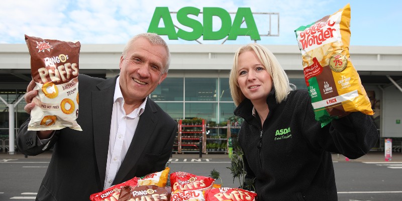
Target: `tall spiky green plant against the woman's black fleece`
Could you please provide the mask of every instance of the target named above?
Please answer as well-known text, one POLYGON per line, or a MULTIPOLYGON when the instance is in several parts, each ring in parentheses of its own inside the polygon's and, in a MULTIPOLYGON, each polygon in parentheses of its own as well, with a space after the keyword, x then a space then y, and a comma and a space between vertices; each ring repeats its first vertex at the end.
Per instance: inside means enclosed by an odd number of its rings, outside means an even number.
POLYGON ((238 178, 240 188, 255 191, 254 188, 255 178, 252 179, 246 178, 247 172, 244 169, 244 161, 243 161, 244 153, 240 147, 237 137, 232 138, 232 147, 233 147, 233 153, 231 158, 231 166, 227 168, 230 169, 232 173, 233 182, 235 182, 235 179, 238 178))

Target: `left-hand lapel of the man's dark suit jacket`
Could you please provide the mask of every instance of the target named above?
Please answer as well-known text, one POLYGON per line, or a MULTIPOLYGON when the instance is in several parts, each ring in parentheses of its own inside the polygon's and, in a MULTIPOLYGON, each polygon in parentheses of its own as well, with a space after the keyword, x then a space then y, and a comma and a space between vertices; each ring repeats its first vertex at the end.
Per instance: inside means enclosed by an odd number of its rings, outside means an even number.
POLYGON ((116 78, 107 79, 99 83, 97 85, 99 90, 92 91, 93 139, 96 164, 102 187, 105 182, 106 163, 108 160, 110 124, 116 78))

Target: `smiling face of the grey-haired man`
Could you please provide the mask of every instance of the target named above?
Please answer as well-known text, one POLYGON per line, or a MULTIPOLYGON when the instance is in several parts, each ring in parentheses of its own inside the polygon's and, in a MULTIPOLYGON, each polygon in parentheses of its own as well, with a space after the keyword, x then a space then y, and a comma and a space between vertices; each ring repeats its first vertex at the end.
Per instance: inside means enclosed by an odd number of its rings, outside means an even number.
POLYGON ((168 54, 162 45, 153 45, 146 38, 133 41, 126 55, 120 58, 120 88, 125 102, 142 103, 165 78, 162 74, 168 54))

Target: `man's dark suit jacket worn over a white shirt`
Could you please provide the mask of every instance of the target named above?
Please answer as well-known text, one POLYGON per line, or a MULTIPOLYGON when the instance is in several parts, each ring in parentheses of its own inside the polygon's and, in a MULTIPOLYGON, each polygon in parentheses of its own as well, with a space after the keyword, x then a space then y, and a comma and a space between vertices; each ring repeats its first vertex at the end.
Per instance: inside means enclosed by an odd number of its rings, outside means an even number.
MULTIPOLYGON (((37 200, 89 200, 103 191, 108 158, 113 96, 113 79, 78 76, 79 115, 83 131, 56 131, 49 145, 37 146, 36 131, 27 131, 29 119, 17 134, 18 150, 38 155, 53 147, 49 167, 37 200)), ((172 152, 177 123, 150 98, 113 184, 164 169, 172 152)))

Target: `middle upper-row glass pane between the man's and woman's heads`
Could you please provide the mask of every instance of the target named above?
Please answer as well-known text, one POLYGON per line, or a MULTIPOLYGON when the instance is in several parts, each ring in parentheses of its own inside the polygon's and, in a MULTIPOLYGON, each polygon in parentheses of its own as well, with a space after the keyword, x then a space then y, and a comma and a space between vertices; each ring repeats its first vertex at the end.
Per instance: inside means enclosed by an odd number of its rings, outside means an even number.
POLYGON ((218 78, 185 78, 186 101, 218 101, 218 78))

